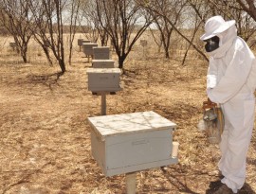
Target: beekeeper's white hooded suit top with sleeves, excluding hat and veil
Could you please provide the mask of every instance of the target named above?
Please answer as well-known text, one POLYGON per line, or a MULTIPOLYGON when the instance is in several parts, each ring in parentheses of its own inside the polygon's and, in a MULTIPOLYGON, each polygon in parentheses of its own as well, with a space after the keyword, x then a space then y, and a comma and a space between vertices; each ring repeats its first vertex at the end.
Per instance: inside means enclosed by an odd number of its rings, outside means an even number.
POLYGON ((211 101, 225 103, 238 94, 254 92, 256 61, 247 43, 237 36, 235 26, 217 36, 221 46, 209 53, 207 92, 211 101))

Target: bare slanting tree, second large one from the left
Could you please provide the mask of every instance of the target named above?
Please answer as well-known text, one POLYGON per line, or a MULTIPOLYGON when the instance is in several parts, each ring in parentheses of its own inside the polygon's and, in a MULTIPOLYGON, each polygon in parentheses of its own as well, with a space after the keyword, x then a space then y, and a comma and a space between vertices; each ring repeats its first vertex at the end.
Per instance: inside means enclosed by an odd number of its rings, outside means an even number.
POLYGON ((63 75, 65 72, 63 14, 67 0, 30 0, 29 2, 36 26, 35 40, 42 45, 46 55, 49 54, 48 49, 52 52, 61 67, 60 75, 63 75))

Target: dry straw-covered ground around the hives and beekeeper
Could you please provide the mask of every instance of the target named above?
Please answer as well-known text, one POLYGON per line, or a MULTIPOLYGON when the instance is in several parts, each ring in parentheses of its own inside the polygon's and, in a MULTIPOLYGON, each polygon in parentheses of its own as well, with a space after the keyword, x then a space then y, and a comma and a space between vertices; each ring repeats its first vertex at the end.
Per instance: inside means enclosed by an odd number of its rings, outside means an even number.
MULTIPOLYGON (((3 44, 4 45, 4 44, 3 44)), ((206 62, 186 66, 166 61, 139 45, 125 63, 123 91, 107 96, 107 115, 155 111, 177 124, 179 163, 137 172, 137 193, 212 193, 219 178, 219 150, 197 130, 205 96, 206 62)), ((101 115, 101 97, 87 90, 91 63, 76 48, 73 64, 56 80, 34 49, 30 63, 8 48, 0 53, 0 193, 121 194, 124 175, 104 177, 90 152, 86 118, 101 115)), ((116 59, 113 54, 113 59, 116 59)), ((247 160, 247 183, 239 193, 256 191, 256 137, 247 160)))

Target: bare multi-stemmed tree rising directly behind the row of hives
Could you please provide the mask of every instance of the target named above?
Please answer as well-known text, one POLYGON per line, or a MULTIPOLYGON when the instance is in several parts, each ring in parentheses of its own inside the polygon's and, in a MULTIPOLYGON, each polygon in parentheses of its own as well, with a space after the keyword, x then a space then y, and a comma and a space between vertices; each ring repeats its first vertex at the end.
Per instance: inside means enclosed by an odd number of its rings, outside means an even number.
POLYGON ((138 38, 152 23, 135 0, 96 0, 98 19, 106 30, 119 57, 119 68, 138 38), (140 21, 140 22, 139 22, 140 21))

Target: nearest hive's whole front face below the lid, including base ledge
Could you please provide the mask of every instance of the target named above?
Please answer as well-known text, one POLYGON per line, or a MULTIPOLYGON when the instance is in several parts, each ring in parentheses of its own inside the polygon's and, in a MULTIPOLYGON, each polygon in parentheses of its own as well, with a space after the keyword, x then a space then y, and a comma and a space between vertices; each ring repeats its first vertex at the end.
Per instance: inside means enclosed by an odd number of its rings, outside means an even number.
POLYGON ((174 164, 173 129, 109 136, 105 140, 107 176, 174 164))

